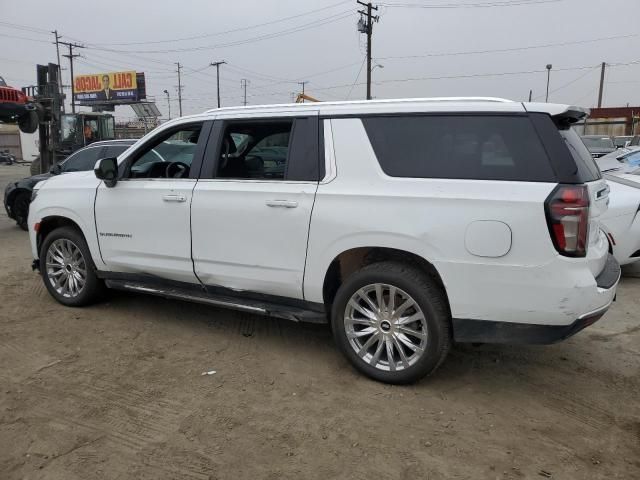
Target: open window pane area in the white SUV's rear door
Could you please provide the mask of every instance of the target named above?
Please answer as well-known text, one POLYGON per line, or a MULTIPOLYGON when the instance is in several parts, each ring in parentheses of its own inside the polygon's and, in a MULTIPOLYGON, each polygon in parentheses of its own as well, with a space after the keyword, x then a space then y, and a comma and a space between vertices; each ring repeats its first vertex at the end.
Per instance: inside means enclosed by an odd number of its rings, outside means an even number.
POLYGON ((292 126, 291 120, 227 125, 216 177, 283 180, 292 126))

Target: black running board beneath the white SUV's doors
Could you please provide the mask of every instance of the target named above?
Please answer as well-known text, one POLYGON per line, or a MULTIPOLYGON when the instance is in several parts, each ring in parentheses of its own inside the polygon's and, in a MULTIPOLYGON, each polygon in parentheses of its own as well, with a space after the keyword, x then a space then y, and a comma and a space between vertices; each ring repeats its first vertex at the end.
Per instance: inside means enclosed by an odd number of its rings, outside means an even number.
POLYGON ((284 318, 294 322, 327 323, 327 317, 324 312, 307 310, 291 305, 235 298, 227 295, 216 295, 191 289, 164 288, 127 280, 105 279, 105 284, 107 287, 116 290, 146 293, 168 299, 202 303, 214 307, 229 308, 231 310, 253 313, 255 315, 284 318))

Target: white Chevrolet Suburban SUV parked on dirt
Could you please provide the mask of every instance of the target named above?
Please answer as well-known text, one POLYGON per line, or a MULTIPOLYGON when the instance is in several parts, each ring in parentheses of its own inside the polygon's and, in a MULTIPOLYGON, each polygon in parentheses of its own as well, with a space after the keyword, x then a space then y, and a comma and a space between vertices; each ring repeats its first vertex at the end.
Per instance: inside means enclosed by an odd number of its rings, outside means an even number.
POLYGON ((550 343, 595 322, 620 269, 586 112, 493 98, 224 108, 95 172, 38 184, 34 267, 69 306, 103 287, 329 322, 406 383, 452 342, 550 343))

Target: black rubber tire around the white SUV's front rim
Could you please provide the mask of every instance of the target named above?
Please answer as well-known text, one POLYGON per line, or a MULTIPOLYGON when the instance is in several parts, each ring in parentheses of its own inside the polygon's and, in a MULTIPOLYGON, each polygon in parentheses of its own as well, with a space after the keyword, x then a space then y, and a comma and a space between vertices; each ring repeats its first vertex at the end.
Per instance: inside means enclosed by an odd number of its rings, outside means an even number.
POLYGON ((69 307, 82 307, 95 303, 102 297, 105 291, 104 282, 96 275, 96 267, 91 258, 91 252, 89 252, 87 242, 83 235, 73 227, 56 228, 46 236, 40 248, 40 273, 45 287, 47 287, 51 296, 61 304, 69 307), (85 283, 75 296, 65 296, 61 294, 56 290, 50 280, 50 274, 47 269, 47 252, 51 245, 57 240, 66 240, 75 245, 80 250, 84 261, 86 273, 85 283))

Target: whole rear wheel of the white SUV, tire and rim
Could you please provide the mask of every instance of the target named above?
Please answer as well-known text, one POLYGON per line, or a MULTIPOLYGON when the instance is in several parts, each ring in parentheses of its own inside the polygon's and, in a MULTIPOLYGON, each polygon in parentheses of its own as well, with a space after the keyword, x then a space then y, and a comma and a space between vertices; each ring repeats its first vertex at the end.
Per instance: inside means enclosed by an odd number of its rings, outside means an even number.
POLYGON ((415 382, 433 373, 451 347, 444 292, 399 262, 374 263, 349 276, 336 294, 331 322, 348 360, 381 382, 415 382))

